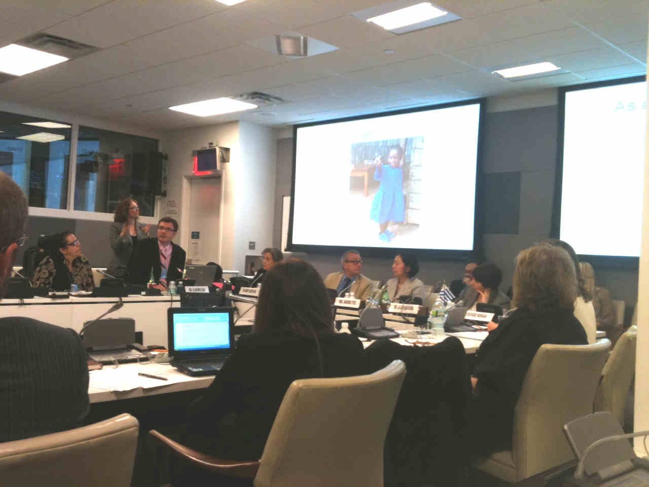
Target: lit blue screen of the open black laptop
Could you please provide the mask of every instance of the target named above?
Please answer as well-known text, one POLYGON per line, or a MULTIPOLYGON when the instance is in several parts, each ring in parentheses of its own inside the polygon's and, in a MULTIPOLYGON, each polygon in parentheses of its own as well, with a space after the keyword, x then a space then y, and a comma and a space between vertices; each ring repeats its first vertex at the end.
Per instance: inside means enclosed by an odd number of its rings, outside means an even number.
POLYGON ((175 351, 230 348, 230 313, 175 313, 173 347, 175 351))

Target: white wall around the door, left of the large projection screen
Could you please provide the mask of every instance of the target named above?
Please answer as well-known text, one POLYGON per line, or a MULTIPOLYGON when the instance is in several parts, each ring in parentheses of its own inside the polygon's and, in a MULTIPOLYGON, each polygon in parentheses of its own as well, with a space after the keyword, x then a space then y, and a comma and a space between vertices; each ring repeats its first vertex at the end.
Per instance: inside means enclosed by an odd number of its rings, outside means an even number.
MULTIPOLYGON (((181 232, 176 241, 189 244, 189 214, 183 208, 188 195, 183 194, 183 181, 191 174, 191 151, 213 142, 230 147, 230 162, 221 174, 221 221, 219 264, 224 269, 243 270, 244 256, 258 254, 273 239, 273 197, 275 195, 276 138, 275 130, 248 122, 230 122, 209 127, 195 127, 167 132, 165 149, 169 153, 169 184, 167 200, 179 205, 181 232), (256 250, 248 250, 248 242, 256 242, 256 250)), ((186 187, 189 185, 186 183, 186 187)))

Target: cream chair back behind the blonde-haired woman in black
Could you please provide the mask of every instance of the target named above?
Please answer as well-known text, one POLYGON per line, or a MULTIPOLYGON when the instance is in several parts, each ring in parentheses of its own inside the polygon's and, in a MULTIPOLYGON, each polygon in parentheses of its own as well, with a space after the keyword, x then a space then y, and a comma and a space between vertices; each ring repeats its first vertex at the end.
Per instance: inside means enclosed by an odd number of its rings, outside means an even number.
POLYGON ((512 455, 516 480, 574 459, 563 425, 593 412, 593 399, 611 342, 541 345, 516 404, 512 455))

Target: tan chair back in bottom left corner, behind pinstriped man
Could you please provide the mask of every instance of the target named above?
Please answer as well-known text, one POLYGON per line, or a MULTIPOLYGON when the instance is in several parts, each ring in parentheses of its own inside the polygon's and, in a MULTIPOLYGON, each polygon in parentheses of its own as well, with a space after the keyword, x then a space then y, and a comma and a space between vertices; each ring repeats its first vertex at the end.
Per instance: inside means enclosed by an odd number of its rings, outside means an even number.
POLYGON ((120 414, 92 425, 0 443, 0 485, 129 487, 138 420, 120 414))

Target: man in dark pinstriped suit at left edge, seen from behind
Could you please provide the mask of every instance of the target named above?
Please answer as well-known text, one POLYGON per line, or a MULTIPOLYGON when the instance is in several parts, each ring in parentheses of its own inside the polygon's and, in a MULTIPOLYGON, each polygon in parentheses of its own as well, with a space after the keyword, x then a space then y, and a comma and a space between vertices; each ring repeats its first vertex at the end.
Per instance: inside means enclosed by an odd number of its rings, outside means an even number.
MULTIPOLYGON (((27 240, 26 224, 27 198, 0 171, 0 299, 27 240)), ((79 334, 31 318, 0 318, 0 442, 79 427, 89 409, 79 334)))

